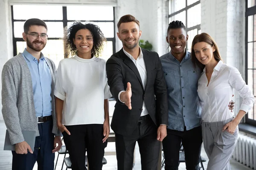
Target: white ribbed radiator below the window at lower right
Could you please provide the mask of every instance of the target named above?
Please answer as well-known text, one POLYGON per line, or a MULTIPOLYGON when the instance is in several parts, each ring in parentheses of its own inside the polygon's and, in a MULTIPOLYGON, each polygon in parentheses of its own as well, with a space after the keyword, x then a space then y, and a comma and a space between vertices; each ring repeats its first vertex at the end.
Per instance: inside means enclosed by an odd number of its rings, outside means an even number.
POLYGON ((233 159, 256 170, 256 139, 239 134, 233 159))

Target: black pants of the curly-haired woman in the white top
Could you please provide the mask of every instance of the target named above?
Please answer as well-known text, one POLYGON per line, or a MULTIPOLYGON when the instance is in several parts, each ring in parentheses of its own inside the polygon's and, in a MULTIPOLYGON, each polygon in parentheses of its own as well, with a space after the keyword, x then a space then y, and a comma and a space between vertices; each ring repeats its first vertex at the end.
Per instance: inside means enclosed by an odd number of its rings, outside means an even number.
POLYGON ((102 143, 103 125, 70 125, 66 126, 70 135, 66 132, 63 139, 70 155, 72 170, 85 170, 85 152, 90 170, 102 170, 104 149, 108 141, 102 143))

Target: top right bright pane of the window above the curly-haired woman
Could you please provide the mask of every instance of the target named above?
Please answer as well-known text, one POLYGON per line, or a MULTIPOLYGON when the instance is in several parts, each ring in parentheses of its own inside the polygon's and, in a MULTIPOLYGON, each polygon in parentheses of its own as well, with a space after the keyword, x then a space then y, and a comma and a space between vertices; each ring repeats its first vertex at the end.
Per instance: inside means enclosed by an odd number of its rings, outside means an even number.
POLYGON ((113 20, 112 6, 67 6, 67 20, 113 20))

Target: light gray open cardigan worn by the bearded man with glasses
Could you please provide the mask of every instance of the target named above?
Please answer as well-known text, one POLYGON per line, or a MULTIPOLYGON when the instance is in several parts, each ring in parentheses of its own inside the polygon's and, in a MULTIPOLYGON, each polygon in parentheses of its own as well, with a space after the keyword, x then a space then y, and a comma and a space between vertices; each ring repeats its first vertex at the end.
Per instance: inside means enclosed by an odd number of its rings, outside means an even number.
MULTIPOLYGON (((45 57, 52 75, 52 133, 61 135, 57 128, 55 114, 55 76, 56 67, 51 59, 45 57)), ((32 78, 29 67, 19 53, 9 59, 3 66, 2 71, 2 113, 3 119, 9 132, 12 144, 23 142, 21 130, 35 131, 39 136, 37 118, 32 87, 32 78)))

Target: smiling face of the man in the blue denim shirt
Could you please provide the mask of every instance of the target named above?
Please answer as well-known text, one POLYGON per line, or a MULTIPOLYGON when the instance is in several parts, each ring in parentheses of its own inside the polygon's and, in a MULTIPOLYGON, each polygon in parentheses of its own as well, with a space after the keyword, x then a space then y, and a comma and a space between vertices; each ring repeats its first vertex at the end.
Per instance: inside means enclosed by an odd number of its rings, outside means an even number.
POLYGON ((186 41, 189 36, 184 28, 175 28, 168 31, 166 42, 169 43, 172 54, 185 53, 186 41))

